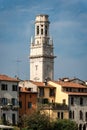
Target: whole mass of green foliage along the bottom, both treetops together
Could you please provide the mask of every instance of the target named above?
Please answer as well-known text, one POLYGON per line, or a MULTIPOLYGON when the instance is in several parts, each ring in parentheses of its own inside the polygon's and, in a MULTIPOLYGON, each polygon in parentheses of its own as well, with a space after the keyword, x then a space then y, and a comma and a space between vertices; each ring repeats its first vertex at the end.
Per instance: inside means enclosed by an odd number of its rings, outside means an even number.
POLYGON ((74 121, 67 119, 50 121, 49 116, 40 112, 23 117, 21 119, 22 125, 26 130, 78 130, 78 126, 74 121))

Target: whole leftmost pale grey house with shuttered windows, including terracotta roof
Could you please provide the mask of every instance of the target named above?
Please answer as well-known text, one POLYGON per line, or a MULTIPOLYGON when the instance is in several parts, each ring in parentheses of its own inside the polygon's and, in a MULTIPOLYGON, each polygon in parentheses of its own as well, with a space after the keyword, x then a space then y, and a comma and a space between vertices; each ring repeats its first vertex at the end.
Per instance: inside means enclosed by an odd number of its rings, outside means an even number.
POLYGON ((0 119, 3 123, 18 123, 19 80, 7 75, 0 75, 0 119))

